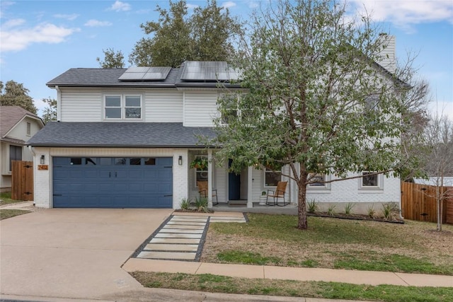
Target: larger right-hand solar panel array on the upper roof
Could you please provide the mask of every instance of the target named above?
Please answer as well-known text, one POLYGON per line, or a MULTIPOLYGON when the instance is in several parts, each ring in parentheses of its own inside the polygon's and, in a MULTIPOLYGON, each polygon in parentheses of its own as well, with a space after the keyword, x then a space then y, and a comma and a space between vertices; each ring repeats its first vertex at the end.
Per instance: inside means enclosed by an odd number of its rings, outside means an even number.
POLYGON ((231 81, 239 79, 239 73, 226 62, 188 61, 184 64, 183 81, 231 81))

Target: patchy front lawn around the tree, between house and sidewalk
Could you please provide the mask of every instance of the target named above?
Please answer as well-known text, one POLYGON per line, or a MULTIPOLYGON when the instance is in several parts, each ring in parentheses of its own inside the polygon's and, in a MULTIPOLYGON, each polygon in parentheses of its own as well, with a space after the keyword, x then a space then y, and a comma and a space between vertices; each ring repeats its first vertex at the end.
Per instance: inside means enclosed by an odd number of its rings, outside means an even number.
POLYGON ((211 223, 201 261, 453 275, 453 226, 435 223, 248 214, 248 223, 211 223), (263 256, 265 255, 265 256, 263 256))

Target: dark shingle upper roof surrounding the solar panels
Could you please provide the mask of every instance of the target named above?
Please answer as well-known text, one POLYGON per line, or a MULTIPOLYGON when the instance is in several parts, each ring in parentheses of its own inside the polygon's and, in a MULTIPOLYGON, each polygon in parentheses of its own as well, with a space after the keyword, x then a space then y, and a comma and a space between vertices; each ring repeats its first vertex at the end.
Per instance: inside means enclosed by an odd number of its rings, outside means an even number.
MULTIPOLYGON (((190 62, 188 62, 190 63, 190 62)), ((203 63, 203 62, 201 62, 203 63)), ((212 62, 214 63, 214 62, 212 62)), ((222 62, 226 64, 225 62, 222 62)), ((50 88, 59 87, 142 87, 142 88, 218 88, 219 81, 186 79, 183 76, 186 64, 180 68, 172 68, 164 79, 140 79, 120 80, 128 69, 94 69, 94 68, 72 68, 50 80, 46 85, 50 88)), ((226 65, 227 66, 227 65, 226 65)), ((137 67, 134 67, 137 69, 137 67)), ((153 67, 149 67, 153 68, 153 67)), ((162 67, 156 67, 162 68, 162 67)), ((231 71, 231 68, 229 68, 231 71)), ((229 81, 222 81, 222 84, 230 88, 240 88, 238 84, 231 84, 229 81)))

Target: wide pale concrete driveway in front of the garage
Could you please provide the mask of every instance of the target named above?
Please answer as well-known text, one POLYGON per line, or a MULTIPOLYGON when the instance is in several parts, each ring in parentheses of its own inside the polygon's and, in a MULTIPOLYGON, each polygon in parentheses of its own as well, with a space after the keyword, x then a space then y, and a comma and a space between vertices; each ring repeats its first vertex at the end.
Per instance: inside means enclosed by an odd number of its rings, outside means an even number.
POLYGON ((0 221, 5 295, 99 299, 142 290, 121 269, 172 209, 47 209, 0 221))

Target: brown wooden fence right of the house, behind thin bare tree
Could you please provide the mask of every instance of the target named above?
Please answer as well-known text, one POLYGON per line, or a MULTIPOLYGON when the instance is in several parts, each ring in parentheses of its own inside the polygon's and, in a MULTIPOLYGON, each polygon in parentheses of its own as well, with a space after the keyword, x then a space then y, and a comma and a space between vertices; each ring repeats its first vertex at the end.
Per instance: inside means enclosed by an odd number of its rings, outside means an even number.
MULTIPOLYGON (((440 187, 440 193, 445 193, 442 222, 453 223, 453 187, 440 187)), ((401 211, 405 219, 437 222, 436 187, 401 182, 401 211)))

